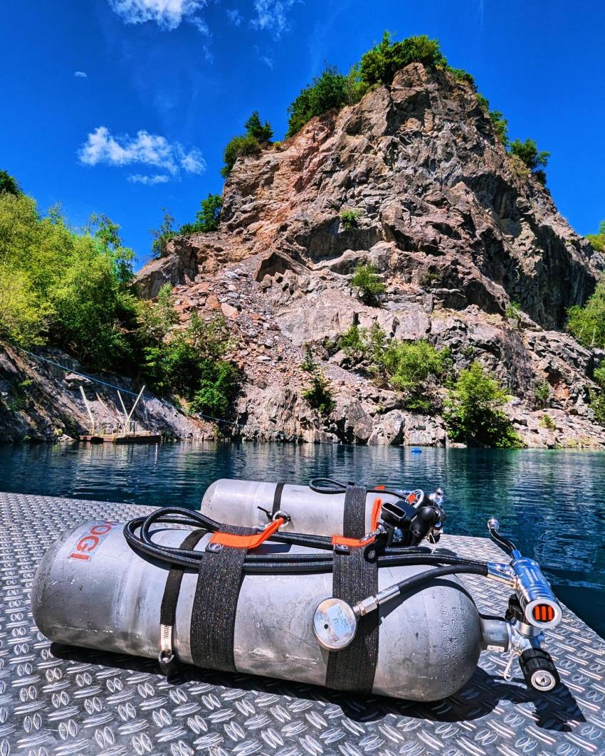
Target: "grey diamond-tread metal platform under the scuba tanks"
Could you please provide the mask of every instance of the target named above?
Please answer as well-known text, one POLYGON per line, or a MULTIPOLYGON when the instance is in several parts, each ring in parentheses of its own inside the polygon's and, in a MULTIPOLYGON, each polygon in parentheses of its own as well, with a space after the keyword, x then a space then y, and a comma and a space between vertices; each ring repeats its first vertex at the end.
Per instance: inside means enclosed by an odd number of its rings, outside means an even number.
MULTIPOLYGON (((471 682, 430 705, 191 669, 170 684, 153 661, 52 646, 29 593, 60 535, 99 516, 147 507, 0 494, 0 756, 67 754, 605 754, 605 642, 571 612, 547 648, 563 686, 538 696, 504 656, 483 653, 471 682)), ((467 556, 501 553, 486 539, 444 537, 467 556)), ((479 609, 501 614, 507 590, 467 578, 479 609)))

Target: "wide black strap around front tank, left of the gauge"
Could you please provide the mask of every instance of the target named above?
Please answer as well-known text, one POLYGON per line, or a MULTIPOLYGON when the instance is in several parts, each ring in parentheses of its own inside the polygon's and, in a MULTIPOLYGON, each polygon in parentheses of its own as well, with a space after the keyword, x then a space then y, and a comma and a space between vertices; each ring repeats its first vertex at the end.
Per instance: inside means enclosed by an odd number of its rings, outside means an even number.
MULTIPOLYGON (((223 525, 222 532, 252 535, 252 528, 223 525)), ((247 550, 209 544, 197 576, 191 610, 191 658, 197 667, 237 672, 233 656, 235 612, 247 550)))

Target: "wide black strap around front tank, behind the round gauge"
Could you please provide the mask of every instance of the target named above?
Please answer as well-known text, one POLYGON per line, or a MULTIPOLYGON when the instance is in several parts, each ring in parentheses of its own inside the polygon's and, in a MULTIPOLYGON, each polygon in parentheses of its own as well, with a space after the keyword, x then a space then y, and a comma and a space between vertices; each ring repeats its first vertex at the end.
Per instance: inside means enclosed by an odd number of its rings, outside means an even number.
MULTIPOLYGON (((351 606, 378 590, 378 565, 365 558, 366 548, 349 547, 348 553, 334 550, 332 595, 351 606)), ((328 688, 371 692, 378 661, 379 619, 379 612, 360 617, 352 643, 340 651, 330 651, 326 673, 328 688)))

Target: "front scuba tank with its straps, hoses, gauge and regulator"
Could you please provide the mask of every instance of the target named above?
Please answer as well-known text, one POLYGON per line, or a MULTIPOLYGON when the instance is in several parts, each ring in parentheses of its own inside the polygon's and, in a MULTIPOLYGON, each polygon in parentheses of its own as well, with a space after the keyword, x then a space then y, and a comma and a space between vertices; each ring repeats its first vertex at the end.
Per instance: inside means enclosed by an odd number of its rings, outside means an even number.
MULTIPOLYGON (((349 496, 358 515, 361 493, 349 496)), ((362 538, 292 533, 284 516, 259 532, 179 508, 88 522, 42 558, 33 616, 55 642, 158 658, 166 674, 193 663, 433 701, 461 689, 489 648, 508 652, 507 679, 518 658, 529 686, 552 689, 543 631, 561 610, 539 565, 495 520, 510 562, 402 546, 430 537, 427 513, 416 522, 426 508, 385 502, 362 538), (513 590, 505 618, 479 615, 464 573, 513 590)))

